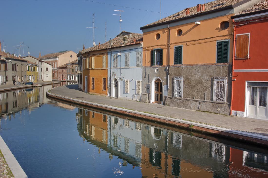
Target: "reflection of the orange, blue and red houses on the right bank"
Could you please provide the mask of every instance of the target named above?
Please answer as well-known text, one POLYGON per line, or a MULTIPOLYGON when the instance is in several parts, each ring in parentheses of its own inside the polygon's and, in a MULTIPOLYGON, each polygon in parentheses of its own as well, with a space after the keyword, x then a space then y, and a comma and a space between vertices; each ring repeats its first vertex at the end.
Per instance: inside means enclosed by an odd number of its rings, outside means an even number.
POLYGON ((79 135, 142 177, 266 177, 267 155, 227 147, 91 110, 76 113, 79 135), (250 171, 251 170, 251 171, 250 171))

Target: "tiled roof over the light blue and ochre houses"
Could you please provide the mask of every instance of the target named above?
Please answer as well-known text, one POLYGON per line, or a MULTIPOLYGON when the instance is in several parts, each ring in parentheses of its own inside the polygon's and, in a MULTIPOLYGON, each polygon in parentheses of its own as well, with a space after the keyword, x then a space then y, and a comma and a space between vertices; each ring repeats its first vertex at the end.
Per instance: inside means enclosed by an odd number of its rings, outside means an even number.
MULTIPOLYGON (((130 33, 130 32, 128 32, 128 33, 130 33)), ((129 46, 129 45, 141 44, 142 40, 143 40, 143 35, 140 33, 130 33, 129 35, 115 37, 112 40, 113 40, 112 47, 110 47, 110 42, 107 41, 107 42, 102 43, 100 45, 96 45, 96 46, 91 47, 91 48, 83 49, 81 51, 81 54, 84 54, 86 52, 101 51, 104 49, 112 49, 112 48, 124 47, 124 46, 129 46), (127 37, 128 42, 126 44, 124 44, 124 40, 123 40, 124 37, 127 37), (134 42, 134 37, 136 39, 136 42, 134 42)))

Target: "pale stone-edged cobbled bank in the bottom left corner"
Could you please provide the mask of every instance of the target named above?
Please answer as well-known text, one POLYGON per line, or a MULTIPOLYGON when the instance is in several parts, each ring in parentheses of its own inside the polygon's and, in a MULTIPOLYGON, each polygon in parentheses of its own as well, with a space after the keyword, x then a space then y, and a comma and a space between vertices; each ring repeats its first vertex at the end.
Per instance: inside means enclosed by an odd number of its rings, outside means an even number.
POLYGON ((0 177, 27 178, 20 164, 0 136, 0 177), (2 153, 2 154, 1 154, 2 153))

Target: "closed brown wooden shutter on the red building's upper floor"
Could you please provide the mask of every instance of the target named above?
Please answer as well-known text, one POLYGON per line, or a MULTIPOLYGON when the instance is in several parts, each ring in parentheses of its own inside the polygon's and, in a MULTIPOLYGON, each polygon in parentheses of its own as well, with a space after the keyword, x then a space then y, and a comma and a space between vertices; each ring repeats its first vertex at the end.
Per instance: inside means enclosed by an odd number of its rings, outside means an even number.
POLYGON ((249 34, 236 36, 235 59, 248 58, 249 34))

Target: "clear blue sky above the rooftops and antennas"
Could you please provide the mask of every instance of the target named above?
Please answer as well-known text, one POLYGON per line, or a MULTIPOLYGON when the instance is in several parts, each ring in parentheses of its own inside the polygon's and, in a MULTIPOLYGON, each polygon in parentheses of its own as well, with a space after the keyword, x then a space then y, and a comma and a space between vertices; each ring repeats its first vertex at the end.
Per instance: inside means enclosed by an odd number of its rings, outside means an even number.
MULTIPOLYGON (((19 53, 17 47, 24 42, 24 56, 38 57, 47 53, 72 50, 78 52, 93 46, 92 14, 95 13, 95 42, 105 42, 105 21, 107 21, 107 41, 121 31, 142 33, 140 27, 159 20, 159 0, 92 0, 113 5, 157 11, 158 13, 134 10, 125 7, 105 5, 85 0, 1 0, 0 40, 7 52, 19 53), (17 46, 18 45, 18 46, 17 46)), ((210 0, 211 1, 211 0, 210 0)), ((208 0, 206 2, 209 2, 208 0)), ((161 18, 187 7, 204 3, 204 0, 162 0, 161 18), (168 14, 164 14, 168 13, 168 14)), ((21 48, 21 56, 23 50, 21 48)))

